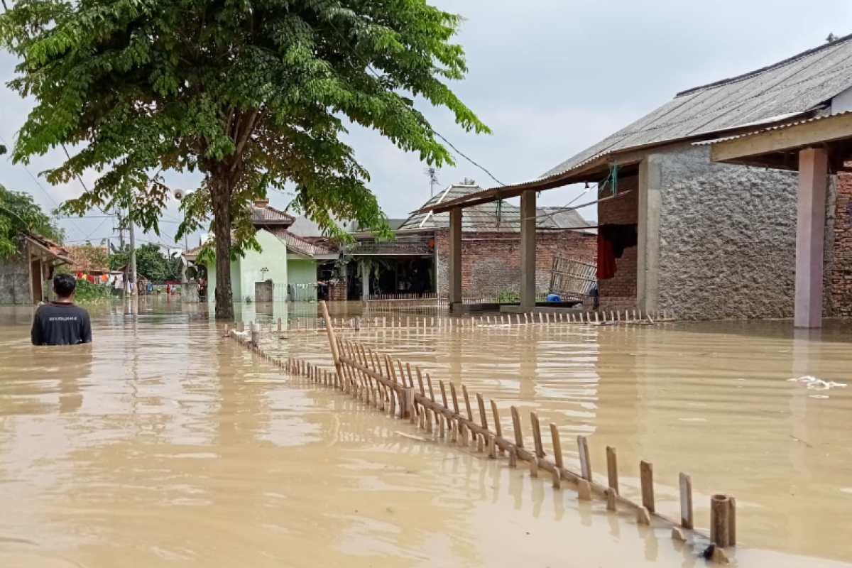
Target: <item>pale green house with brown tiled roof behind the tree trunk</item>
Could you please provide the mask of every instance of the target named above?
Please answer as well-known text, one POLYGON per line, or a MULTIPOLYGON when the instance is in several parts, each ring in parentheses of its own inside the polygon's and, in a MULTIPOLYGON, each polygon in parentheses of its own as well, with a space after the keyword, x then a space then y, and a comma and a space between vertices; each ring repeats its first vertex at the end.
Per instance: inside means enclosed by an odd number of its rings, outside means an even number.
MULTIPOLYGON (((255 284, 272 280, 273 299, 311 301, 316 299, 320 262, 334 261, 337 251, 325 244, 313 243, 289 231, 296 221, 292 215, 269 206, 268 199, 251 206, 255 238, 262 252, 249 250, 231 261, 231 288, 234 301, 255 301, 255 284)), ((200 247, 184 253, 186 261, 195 261, 200 247)), ((207 297, 216 298, 216 265, 207 266, 207 297)))

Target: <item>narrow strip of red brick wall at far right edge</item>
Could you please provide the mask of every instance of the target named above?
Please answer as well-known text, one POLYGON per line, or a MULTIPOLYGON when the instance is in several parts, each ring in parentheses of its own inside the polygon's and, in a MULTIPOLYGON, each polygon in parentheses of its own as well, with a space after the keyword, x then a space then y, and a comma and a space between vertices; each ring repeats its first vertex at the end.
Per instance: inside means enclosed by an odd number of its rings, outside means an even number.
POLYGON ((826 262, 828 299, 826 315, 852 317, 852 175, 838 174, 834 209, 834 243, 826 262), (829 308, 830 307, 830 308, 829 308))

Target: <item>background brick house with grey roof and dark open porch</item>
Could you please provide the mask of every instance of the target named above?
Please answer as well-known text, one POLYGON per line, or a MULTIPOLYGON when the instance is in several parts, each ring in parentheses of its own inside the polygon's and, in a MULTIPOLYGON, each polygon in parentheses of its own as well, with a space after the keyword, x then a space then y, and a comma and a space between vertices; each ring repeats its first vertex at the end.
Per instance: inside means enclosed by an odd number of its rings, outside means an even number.
MULTIPOLYGON (((381 259, 371 294, 436 292, 449 294, 450 215, 430 209, 446 201, 481 192, 471 184, 453 184, 394 228, 393 241, 377 241, 369 232, 355 233, 348 248, 355 262, 381 259)), ((556 256, 594 261, 594 229, 575 210, 539 208, 537 245, 542 251, 536 269, 536 291, 546 294, 556 256)), ((503 201, 475 205, 462 223, 463 294, 468 298, 514 297, 519 288, 521 209, 503 201)), ((362 283, 363 284, 363 283, 362 283)), ((362 295, 364 292, 362 292, 362 295)))

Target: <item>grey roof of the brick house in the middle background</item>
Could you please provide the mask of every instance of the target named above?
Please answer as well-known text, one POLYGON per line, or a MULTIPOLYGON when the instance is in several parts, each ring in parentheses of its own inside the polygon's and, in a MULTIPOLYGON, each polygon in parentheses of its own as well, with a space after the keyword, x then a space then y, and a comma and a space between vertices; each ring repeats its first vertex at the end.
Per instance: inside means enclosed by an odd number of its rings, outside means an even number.
MULTIPOLYGON (((474 195, 481 192, 479 186, 449 186, 443 192, 430 198, 420 210, 435 207, 438 204, 474 195)), ((588 227, 589 223, 574 210, 561 208, 538 208, 536 227, 543 229, 566 229, 588 227)), ((449 213, 415 213, 402 224, 400 229, 449 227, 449 213)), ((475 205, 464 209, 462 215, 463 232, 520 232, 521 208, 503 202, 494 201, 488 204, 475 205)))

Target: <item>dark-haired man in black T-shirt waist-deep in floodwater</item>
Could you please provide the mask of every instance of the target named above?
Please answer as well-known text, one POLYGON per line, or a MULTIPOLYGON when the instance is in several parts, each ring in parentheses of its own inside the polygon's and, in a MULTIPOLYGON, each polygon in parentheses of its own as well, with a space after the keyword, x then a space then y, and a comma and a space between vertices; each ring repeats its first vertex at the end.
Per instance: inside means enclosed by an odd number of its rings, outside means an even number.
POLYGON ((74 305, 77 280, 71 274, 54 277, 56 301, 36 310, 32 320, 33 345, 78 345, 92 342, 89 313, 74 305))

